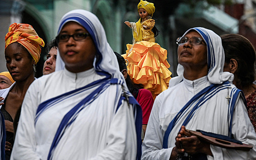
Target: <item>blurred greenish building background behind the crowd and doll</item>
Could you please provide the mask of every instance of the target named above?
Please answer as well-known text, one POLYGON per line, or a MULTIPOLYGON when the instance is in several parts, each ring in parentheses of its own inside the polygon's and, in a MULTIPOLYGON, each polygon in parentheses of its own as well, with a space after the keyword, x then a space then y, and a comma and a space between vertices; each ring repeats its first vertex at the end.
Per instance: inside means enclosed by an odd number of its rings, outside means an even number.
MULTIPOLYGON (((137 22, 140 0, 0 0, 0 72, 5 66, 5 34, 9 26, 28 23, 47 44, 56 36, 61 17, 74 9, 89 10, 100 19, 112 49, 124 54, 132 43, 132 31, 123 22, 137 22)), ((218 35, 244 35, 256 47, 256 0, 148 0, 155 4, 156 42, 168 51, 170 70, 176 75, 176 38, 187 29, 202 26, 218 35)), ((46 59, 43 47, 36 77, 42 75, 46 59)))

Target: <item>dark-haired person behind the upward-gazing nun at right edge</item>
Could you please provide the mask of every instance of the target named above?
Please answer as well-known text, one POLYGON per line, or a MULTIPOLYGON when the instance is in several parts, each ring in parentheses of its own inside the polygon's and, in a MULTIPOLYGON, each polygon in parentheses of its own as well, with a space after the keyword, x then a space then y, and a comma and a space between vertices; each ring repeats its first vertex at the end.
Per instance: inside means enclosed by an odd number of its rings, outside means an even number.
POLYGON ((256 53, 251 42, 242 35, 221 35, 225 52, 224 71, 233 73, 233 84, 245 94, 247 111, 256 131, 256 53))

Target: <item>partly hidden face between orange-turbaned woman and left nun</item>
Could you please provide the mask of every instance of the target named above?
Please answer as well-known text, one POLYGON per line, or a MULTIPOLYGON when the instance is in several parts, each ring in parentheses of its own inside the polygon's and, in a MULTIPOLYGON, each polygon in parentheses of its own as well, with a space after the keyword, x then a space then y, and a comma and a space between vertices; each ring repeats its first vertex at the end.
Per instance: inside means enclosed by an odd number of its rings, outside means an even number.
POLYGON ((55 38, 47 44, 47 55, 46 60, 43 64, 43 75, 48 75, 55 71, 56 56, 57 56, 58 45, 55 38))

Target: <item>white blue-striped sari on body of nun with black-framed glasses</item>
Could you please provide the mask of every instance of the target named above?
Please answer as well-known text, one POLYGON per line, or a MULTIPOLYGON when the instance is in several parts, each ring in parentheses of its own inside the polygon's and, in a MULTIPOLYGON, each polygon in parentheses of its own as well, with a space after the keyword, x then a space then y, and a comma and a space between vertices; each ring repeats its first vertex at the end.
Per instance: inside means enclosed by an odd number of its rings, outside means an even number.
POLYGON ((103 78, 91 69, 78 74, 61 70, 35 80, 23 101, 12 158, 136 159, 133 106, 124 99, 121 85, 103 78), (80 109, 71 113, 74 106, 80 109))

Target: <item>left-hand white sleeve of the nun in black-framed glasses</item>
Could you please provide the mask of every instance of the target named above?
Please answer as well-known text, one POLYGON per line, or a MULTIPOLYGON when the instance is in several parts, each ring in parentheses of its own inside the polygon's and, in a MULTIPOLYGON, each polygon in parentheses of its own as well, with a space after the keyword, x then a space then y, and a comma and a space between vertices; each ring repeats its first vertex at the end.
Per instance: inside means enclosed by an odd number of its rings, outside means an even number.
POLYGON ((21 106, 21 115, 17 127, 11 160, 40 160, 36 153, 35 115, 37 110, 37 83, 28 88, 21 106))

